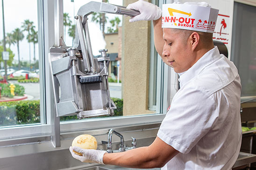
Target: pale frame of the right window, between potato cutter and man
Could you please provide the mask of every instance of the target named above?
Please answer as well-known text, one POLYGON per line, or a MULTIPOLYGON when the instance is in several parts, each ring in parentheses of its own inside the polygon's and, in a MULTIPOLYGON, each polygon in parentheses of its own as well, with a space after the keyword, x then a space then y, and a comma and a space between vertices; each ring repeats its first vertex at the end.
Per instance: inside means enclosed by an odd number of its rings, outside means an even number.
MULTIPOLYGON (((157 0, 153 0, 152 3, 156 3, 157 0)), ((162 7, 164 0, 159 0, 159 6, 162 7)), ((153 35, 153 24, 151 23, 151 36, 153 35)), ((154 38, 151 37, 151 48, 154 49, 154 38)), ((154 52, 154 54, 157 54, 154 52)), ((151 55, 151 54, 150 54, 151 55)), ((151 58, 154 58, 151 55, 151 58)), ((152 68, 152 67, 151 67, 152 68)), ((156 113, 154 114, 144 114, 144 115, 133 115, 133 116, 122 116, 113 118, 103 118, 103 119, 90 119, 90 120, 73 120, 60 122, 60 131, 68 132, 78 129, 96 129, 101 127, 116 127, 116 126, 129 126, 135 124, 151 124, 156 122, 162 122, 165 117, 167 108, 170 105, 170 98, 168 97, 171 91, 171 68, 168 67, 162 61, 161 57, 157 54, 157 85, 156 87, 156 113), (164 93, 165 92, 165 93, 164 93), (167 92, 167 93, 166 93, 167 92), (166 102, 164 102, 166 101, 166 102), (95 123, 96 122, 96 123, 95 123), (100 126, 98 125, 100 124, 100 126)), ((152 72, 152 71, 151 71, 152 72)), ((152 83, 152 82, 150 82, 152 83)), ((150 107, 150 106, 149 106, 150 107)))

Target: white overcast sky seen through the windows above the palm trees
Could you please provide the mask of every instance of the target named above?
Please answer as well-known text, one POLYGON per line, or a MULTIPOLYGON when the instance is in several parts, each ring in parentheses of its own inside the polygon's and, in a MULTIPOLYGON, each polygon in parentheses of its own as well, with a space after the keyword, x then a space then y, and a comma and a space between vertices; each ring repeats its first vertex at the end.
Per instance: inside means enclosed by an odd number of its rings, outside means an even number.
MULTIPOLYGON (((77 14, 78 9, 88 3, 91 0, 74 0, 74 3, 71 0, 64 0, 64 13, 69 13, 71 17, 71 21, 73 21, 74 14, 77 14), (74 12, 75 10, 75 12, 74 12)), ((101 1, 101 0, 94 0, 94 1, 101 1)), ((122 5, 122 0, 109 0, 109 3, 122 5)), ((2 1, 0 0, 0 40, 3 39, 3 25, 2 25, 2 1)), ((115 14, 107 14, 107 17, 111 20, 114 17, 119 16, 121 19, 121 15, 115 14)), ((38 22, 37 22, 37 0, 4 0, 4 17, 5 17, 5 34, 11 33, 15 28, 20 28, 22 26, 22 22, 24 20, 30 20, 34 22, 36 26, 36 31, 38 30, 38 22)), ((89 19, 90 21, 90 19, 89 19)), ((92 41, 92 48, 93 54, 98 49, 104 48, 105 42, 102 39, 102 35, 99 35, 99 24, 90 24, 89 31, 90 31, 90 38, 92 41), (99 40, 99 41, 98 41, 99 40), (93 45, 94 43, 98 44, 93 45)), ((105 27, 107 29, 107 27, 105 27)), ((65 35, 65 43, 68 46, 72 45, 72 39, 67 35, 68 28, 66 29, 65 35)), ((20 58, 21 60, 29 60, 29 45, 26 40, 27 32, 23 33, 25 35, 24 39, 20 42, 20 58)), ((31 61, 34 58, 34 50, 33 44, 31 43, 31 61)), ((6 44, 8 48, 9 45, 6 44)), ((15 56, 14 59, 18 60, 18 50, 17 45, 11 45, 11 50, 14 52, 15 56)), ((36 59, 38 59, 38 44, 36 44, 36 59)))

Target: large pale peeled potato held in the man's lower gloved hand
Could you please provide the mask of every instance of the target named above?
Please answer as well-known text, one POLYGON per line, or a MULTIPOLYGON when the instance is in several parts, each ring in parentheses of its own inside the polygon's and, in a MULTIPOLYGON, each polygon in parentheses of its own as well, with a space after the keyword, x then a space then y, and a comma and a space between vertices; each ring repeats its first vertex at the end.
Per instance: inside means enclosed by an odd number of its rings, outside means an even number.
MULTIPOLYGON (((97 149, 97 141, 92 135, 79 135, 73 140, 72 147, 73 146, 77 146, 82 149, 97 149)), ((78 152, 75 152, 75 154, 80 156, 82 155, 78 152)))

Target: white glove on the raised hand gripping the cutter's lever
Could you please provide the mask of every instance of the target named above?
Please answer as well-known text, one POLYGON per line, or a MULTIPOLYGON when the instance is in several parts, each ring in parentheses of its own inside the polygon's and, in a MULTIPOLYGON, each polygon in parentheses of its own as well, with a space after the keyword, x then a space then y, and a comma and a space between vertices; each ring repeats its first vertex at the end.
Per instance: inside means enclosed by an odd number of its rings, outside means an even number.
POLYGON ((135 21, 151 21, 157 20, 162 15, 162 10, 154 4, 146 2, 144 0, 138 0, 135 3, 129 4, 127 9, 134 9, 140 11, 141 14, 131 17, 130 22, 135 21))

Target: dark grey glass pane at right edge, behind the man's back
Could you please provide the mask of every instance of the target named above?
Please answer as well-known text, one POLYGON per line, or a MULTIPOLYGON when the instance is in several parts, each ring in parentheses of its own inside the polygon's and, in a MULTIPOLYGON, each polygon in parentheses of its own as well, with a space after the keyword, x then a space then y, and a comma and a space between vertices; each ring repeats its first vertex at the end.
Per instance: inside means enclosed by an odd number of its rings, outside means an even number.
POLYGON ((256 96, 256 7, 235 2, 231 60, 241 78, 241 96, 256 96))

